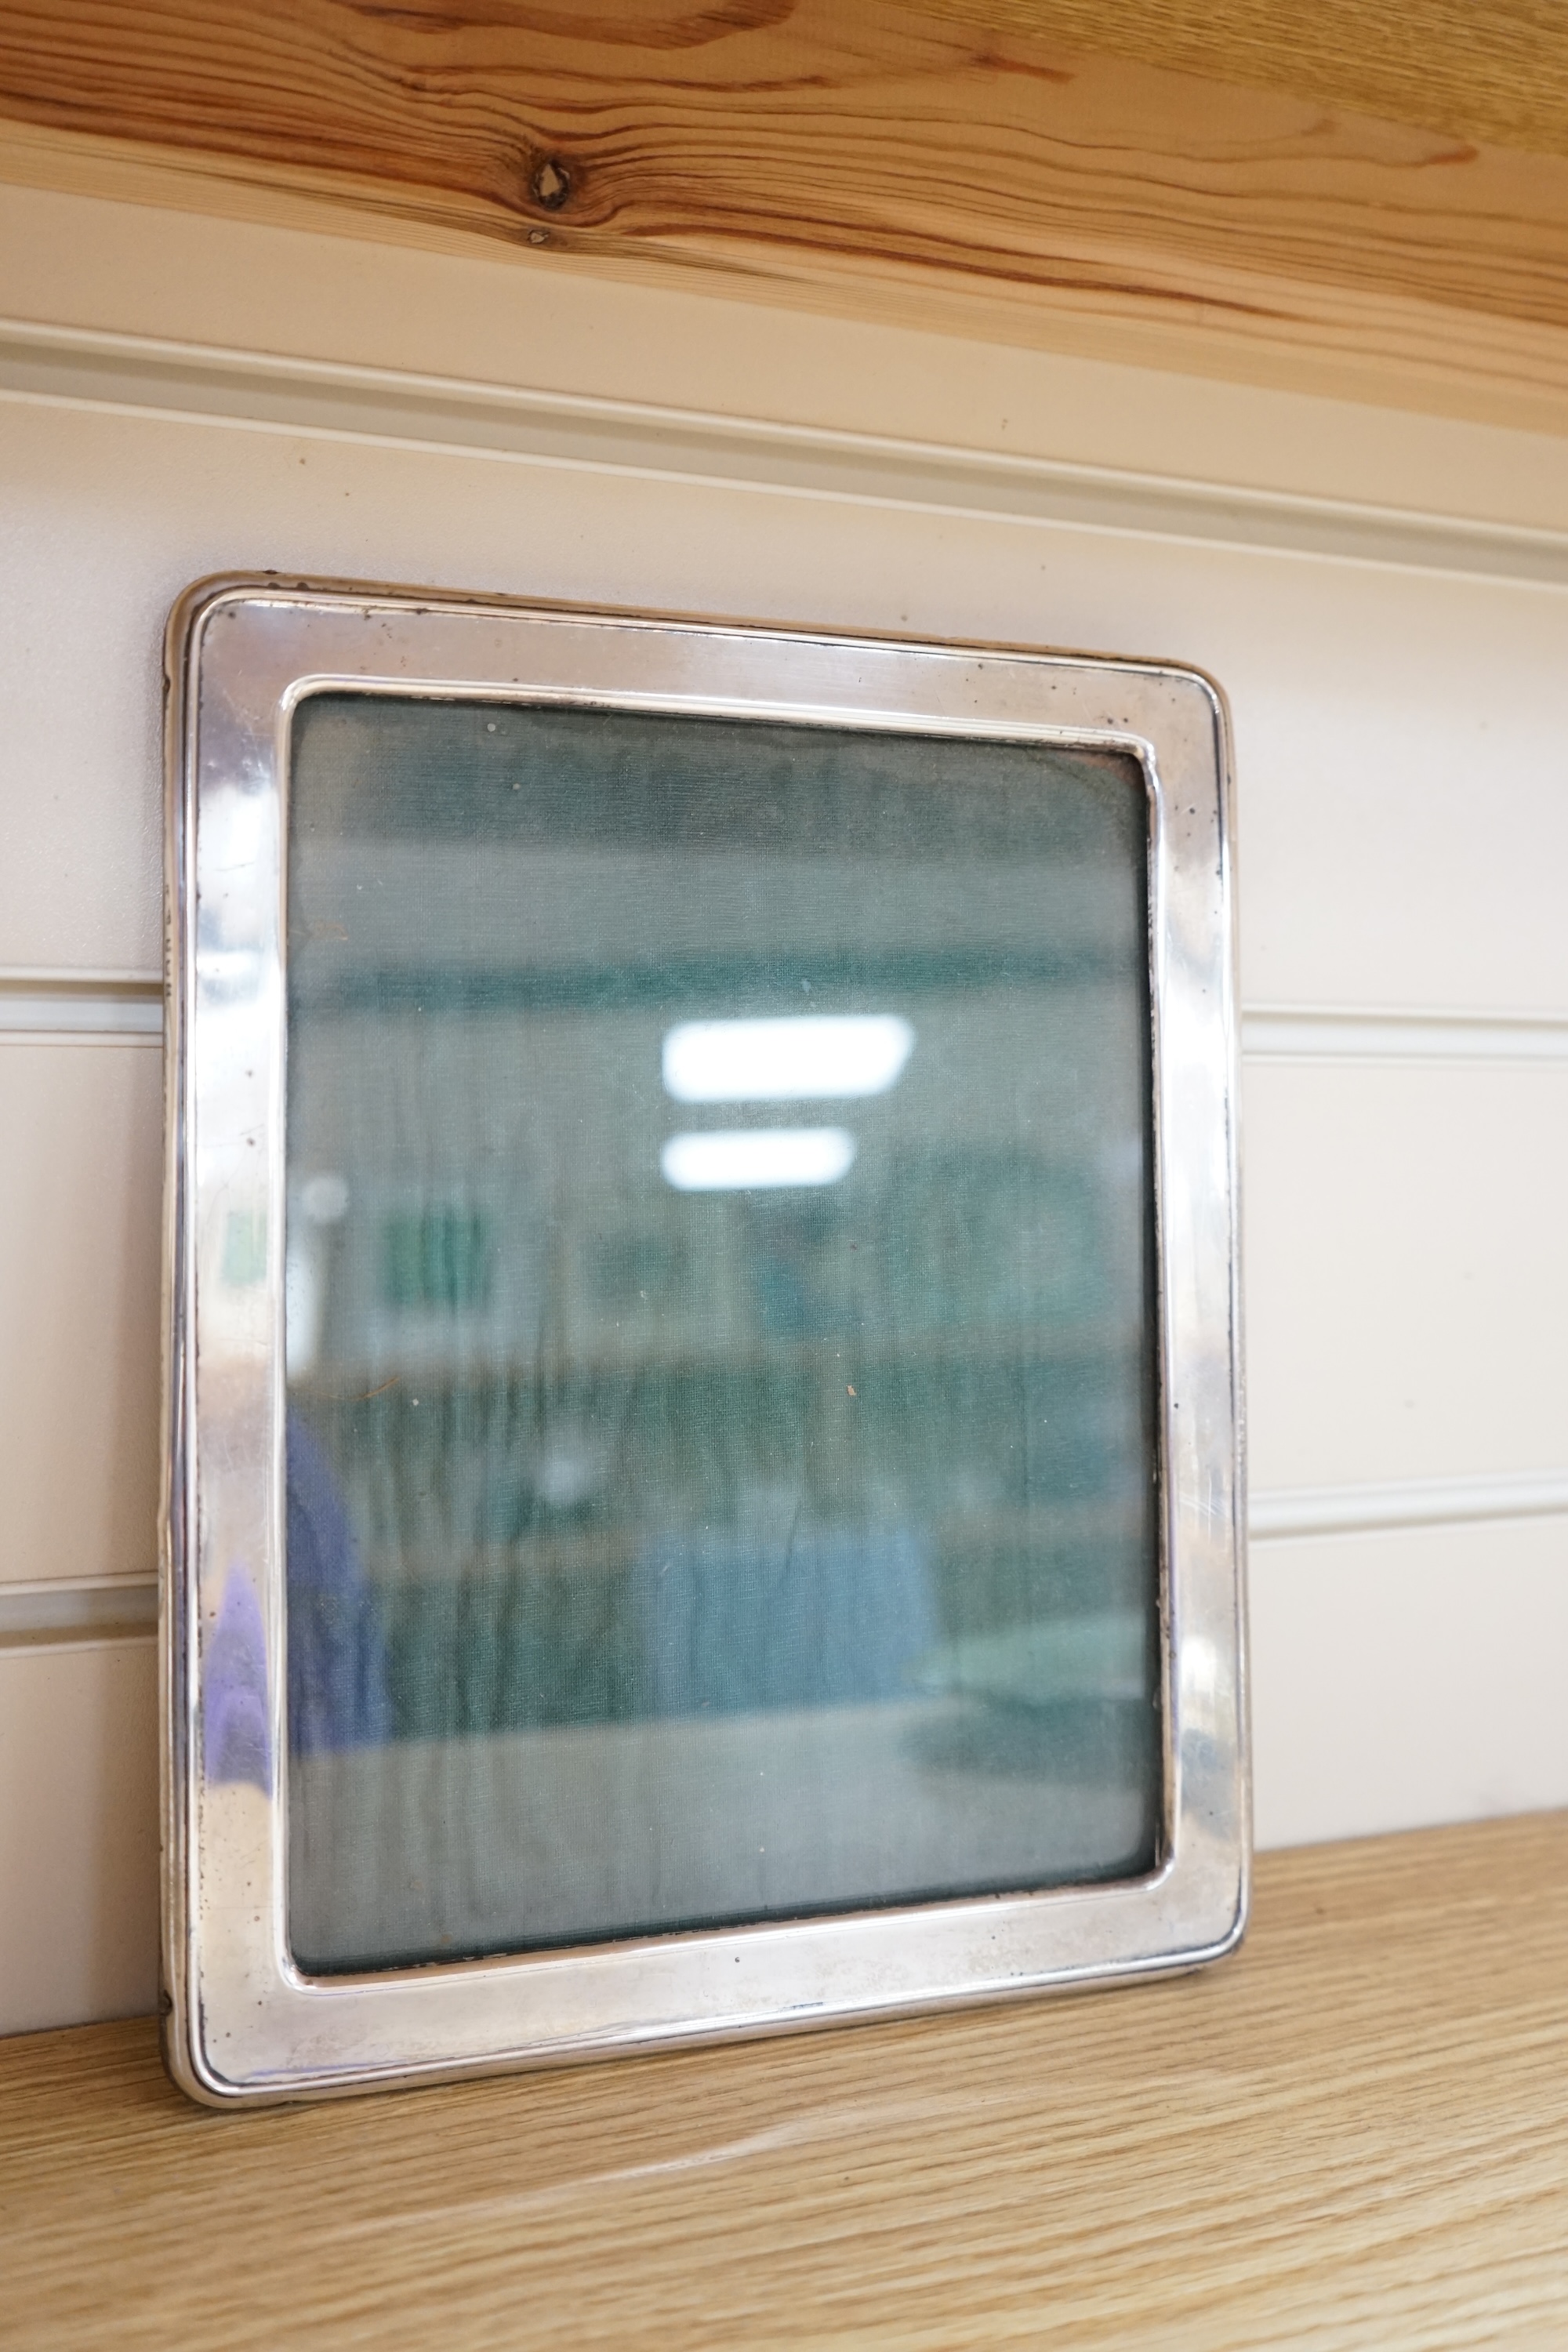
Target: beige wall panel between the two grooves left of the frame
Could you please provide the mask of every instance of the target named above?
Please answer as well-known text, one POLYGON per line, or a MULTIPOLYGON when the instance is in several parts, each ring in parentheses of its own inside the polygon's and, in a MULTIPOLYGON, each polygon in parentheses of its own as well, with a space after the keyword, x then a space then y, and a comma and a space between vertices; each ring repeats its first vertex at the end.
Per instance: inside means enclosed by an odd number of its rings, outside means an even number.
POLYGON ((153 1576, 158 1040, 0 1037, 0 1581, 153 1576))

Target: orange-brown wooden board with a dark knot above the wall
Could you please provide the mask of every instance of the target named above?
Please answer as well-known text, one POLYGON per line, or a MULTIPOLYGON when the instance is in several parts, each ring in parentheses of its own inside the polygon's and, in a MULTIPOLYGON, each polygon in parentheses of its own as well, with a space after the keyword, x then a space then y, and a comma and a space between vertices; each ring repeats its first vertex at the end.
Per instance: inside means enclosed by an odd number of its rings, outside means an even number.
POLYGON ((1248 87, 1175 14, 9 0, 0 174, 1568 428, 1568 19, 1340 0, 1281 87, 1276 0, 1248 87), (1535 153, 1453 127, 1479 54, 1535 153))

